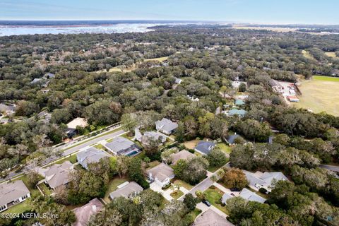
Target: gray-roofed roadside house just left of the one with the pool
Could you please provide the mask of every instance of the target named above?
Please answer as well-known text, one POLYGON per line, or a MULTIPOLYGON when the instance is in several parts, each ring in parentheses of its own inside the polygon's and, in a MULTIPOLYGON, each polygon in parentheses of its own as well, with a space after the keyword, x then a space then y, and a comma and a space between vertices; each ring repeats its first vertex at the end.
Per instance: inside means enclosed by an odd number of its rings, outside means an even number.
POLYGON ((88 164, 99 162, 103 157, 109 157, 109 155, 105 151, 94 147, 88 148, 76 155, 79 164, 85 169, 88 169, 88 164))

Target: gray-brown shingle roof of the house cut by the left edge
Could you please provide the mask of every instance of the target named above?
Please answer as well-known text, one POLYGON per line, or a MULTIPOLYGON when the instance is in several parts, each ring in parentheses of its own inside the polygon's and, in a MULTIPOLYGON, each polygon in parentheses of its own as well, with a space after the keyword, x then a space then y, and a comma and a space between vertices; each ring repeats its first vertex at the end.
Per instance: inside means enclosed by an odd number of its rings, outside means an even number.
POLYGON ((0 206, 16 201, 18 198, 29 194, 27 186, 18 180, 8 184, 0 184, 0 206))

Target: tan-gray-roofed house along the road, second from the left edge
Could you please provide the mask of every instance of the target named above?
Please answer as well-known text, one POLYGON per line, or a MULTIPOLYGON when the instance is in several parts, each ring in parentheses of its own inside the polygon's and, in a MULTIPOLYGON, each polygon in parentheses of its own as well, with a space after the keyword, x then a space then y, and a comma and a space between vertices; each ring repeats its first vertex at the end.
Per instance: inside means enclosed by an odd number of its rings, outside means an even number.
POLYGON ((71 182, 69 173, 73 170, 73 164, 65 161, 62 164, 54 164, 44 172, 45 182, 51 189, 66 185, 71 182))

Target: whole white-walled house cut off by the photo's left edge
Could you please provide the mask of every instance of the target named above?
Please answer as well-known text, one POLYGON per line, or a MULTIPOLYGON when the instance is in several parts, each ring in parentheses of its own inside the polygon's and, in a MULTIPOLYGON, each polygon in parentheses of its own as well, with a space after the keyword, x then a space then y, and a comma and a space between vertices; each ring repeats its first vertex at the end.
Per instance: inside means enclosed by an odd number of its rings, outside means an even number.
POLYGON ((30 191, 21 180, 0 184, 0 212, 29 197, 30 191))

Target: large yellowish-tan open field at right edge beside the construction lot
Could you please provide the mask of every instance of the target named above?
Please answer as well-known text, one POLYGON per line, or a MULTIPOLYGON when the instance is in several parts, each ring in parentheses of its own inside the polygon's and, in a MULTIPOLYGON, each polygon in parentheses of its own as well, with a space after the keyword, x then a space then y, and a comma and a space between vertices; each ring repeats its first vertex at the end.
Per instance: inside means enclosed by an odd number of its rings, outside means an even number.
POLYGON ((339 78, 313 76, 312 80, 303 81, 299 86, 302 95, 294 107, 311 109, 315 113, 327 112, 339 116, 338 93, 339 78))

